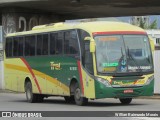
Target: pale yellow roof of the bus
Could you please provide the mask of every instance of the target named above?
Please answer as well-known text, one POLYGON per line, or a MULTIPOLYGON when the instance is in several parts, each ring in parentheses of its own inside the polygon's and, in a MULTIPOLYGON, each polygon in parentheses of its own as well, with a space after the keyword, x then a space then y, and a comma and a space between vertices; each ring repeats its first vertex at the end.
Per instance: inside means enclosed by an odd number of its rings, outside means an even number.
POLYGON ((39 25, 32 28, 30 31, 10 33, 9 36, 20 36, 36 34, 41 32, 51 32, 68 29, 83 29, 90 34, 94 32, 112 32, 112 31, 140 31, 145 32, 143 29, 124 22, 111 22, 111 21, 95 21, 95 22, 73 22, 73 23, 51 23, 46 25, 39 25))

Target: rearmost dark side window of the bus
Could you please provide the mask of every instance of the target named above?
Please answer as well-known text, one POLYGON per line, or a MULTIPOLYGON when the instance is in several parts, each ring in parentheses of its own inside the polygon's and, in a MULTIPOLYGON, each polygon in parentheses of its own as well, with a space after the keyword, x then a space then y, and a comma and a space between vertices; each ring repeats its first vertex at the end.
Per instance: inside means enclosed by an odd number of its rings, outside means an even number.
POLYGON ((6 38, 6 57, 12 57, 12 51, 13 51, 13 41, 12 38, 6 38))

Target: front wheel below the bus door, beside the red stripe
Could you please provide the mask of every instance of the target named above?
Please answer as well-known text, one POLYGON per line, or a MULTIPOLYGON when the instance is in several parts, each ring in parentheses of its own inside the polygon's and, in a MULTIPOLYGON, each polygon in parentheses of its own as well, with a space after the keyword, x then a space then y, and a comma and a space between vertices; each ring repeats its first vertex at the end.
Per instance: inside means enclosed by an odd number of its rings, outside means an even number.
POLYGON ((81 96, 81 90, 79 88, 78 83, 75 84, 74 99, 75 103, 79 106, 83 106, 88 103, 88 99, 81 96))

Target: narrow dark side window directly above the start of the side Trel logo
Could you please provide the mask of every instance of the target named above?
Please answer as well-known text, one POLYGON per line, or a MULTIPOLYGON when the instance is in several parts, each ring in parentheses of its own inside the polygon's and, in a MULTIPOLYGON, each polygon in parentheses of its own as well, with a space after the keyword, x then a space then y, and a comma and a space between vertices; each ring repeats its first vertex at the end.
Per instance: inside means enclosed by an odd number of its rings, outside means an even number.
POLYGON ((56 33, 51 33, 50 34, 50 55, 55 55, 55 50, 56 50, 56 33))

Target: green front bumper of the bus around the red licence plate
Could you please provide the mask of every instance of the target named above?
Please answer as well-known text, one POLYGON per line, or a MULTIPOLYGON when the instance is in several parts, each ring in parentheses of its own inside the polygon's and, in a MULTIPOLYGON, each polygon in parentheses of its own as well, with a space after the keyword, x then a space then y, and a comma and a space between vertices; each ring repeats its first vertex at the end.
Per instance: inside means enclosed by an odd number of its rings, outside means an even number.
POLYGON ((154 80, 148 85, 141 87, 106 87, 105 85, 95 81, 95 96, 100 98, 133 98, 138 96, 153 96, 154 80), (133 90, 133 93, 124 93, 124 90, 133 90))

